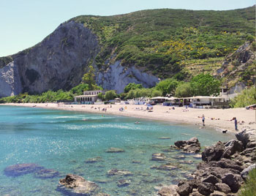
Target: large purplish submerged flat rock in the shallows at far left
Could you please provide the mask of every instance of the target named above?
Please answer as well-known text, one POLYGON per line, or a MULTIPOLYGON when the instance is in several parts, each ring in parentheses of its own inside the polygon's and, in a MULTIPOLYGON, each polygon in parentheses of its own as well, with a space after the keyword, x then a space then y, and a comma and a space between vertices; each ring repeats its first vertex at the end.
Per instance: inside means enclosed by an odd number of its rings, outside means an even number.
POLYGON ((4 174, 6 176, 22 176, 27 173, 34 173, 37 170, 42 170, 43 167, 34 164, 34 163, 23 163, 23 164, 17 164, 17 165, 11 165, 9 167, 6 167, 4 169, 4 174))

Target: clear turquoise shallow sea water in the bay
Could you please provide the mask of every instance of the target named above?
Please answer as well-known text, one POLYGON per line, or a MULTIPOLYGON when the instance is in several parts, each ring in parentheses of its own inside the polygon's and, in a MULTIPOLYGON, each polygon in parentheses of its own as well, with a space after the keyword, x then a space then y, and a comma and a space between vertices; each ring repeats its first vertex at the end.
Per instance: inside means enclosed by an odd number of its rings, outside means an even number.
POLYGON ((212 129, 141 119, 140 124, 135 124, 135 121, 121 116, 0 106, 0 195, 63 195, 56 187, 67 173, 96 182, 110 195, 155 195, 154 186, 176 184, 200 162, 181 151, 166 152, 176 140, 198 137, 201 146, 209 146, 233 138, 212 129), (125 152, 106 153, 110 147, 125 152), (154 153, 164 153, 168 161, 151 161, 154 153), (178 158, 181 155, 185 157, 178 158), (86 163, 94 157, 101 157, 101 161, 86 163), (193 164, 184 164, 184 160, 192 160, 193 164), (150 168, 167 162, 178 169, 150 168), (35 178, 34 173, 17 177, 4 174, 6 167, 19 163, 36 163, 59 171, 59 176, 42 179, 35 178), (112 168, 126 169, 133 175, 108 176, 112 168), (118 187, 120 179, 129 179, 129 186, 118 187))

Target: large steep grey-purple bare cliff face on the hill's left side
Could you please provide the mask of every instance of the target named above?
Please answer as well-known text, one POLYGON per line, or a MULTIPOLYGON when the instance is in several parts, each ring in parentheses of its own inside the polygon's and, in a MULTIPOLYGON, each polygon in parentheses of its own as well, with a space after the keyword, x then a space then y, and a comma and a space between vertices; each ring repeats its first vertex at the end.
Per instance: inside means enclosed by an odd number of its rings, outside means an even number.
POLYGON ((0 96, 78 85, 98 51, 97 37, 83 24, 63 23, 39 44, 11 56, 13 62, 0 69, 0 96))

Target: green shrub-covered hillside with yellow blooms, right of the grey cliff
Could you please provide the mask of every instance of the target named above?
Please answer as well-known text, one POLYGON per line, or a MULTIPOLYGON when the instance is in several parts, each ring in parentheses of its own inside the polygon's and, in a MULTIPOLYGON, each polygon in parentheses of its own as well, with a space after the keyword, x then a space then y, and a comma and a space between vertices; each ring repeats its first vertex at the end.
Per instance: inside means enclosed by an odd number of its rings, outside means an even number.
MULTIPOLYGON (((228 11, 143 10, 108 17, 72 18, 89 27, 102 47, 99 69, 121 60, 159 78, 184 80, 215 72, 229 53, 255 35, 255 7, 228 11)), ((92 62, 91 62, 92 63, 92 62)))

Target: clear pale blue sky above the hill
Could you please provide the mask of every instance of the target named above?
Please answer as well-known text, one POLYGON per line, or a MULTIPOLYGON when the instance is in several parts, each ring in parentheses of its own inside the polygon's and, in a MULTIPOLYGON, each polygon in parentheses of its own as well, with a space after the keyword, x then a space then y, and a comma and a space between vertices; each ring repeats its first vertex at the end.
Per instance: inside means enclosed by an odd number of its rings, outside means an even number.
POLYGON ((256 0, 0 0, 0 57, 41 42, 78 15, 118 15, 138 10, 234 10, 256 0))

